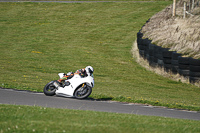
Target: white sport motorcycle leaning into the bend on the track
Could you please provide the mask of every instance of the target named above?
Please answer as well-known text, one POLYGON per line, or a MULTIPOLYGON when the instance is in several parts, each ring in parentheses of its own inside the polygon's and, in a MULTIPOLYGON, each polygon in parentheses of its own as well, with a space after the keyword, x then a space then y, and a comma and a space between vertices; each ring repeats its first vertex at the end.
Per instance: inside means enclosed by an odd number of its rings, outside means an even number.
MULTIPOLYGON (((60 78, 65 74, 59 73, 60 78)), ((64 82, 57 80, 47 83, 44 87, 44 94, 46 96, 63 96, 75 97, 78 99, 87 98, 92 93, 94 87, 94 76, 92 73, 83 77, 79 74, 73 74, 73 77, 66 79, 64 82)))

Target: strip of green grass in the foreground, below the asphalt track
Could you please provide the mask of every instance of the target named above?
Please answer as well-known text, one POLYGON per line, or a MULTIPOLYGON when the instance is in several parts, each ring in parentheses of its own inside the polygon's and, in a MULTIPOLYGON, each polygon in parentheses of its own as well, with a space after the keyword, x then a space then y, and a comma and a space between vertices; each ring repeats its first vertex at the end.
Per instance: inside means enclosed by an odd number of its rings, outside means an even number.
POLYGON ((0 105, 0 132, 200 132, 200 121, 156 116, 0 105), (9 114, 9 115, 8 115, 9 114))

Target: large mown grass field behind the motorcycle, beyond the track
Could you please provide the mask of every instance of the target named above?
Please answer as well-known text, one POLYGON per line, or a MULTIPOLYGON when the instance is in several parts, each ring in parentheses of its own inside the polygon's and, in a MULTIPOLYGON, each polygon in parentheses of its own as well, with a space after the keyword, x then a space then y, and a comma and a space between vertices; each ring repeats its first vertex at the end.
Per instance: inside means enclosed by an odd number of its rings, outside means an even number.
POLYGON ((170 3, 0 3, 0 87, 42 91, 57 73, 91 65, 92 98, 200 110, 198 87, 131 55, 138 30, 170 3))

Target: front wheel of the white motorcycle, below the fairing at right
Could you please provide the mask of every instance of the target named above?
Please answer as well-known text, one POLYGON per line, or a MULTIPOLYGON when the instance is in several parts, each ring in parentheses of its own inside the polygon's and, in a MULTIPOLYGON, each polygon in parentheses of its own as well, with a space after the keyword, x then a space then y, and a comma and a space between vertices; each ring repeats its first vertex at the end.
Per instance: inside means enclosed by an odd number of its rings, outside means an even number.
POLYGON ((74 97, 77 99, 85 99, 92 93, 92 88, 87 86, 82 88, 82 86, 78 87, 74 92, 74 97))

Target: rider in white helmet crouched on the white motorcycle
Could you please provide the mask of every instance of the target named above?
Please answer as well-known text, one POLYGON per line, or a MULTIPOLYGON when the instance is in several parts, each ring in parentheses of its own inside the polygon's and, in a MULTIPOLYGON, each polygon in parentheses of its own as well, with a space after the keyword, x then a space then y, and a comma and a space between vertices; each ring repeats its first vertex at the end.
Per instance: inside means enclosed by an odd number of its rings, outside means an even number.
POLYGON ((75 73, 68 72, 67 74, 64 74, 64 76, 58 81, 62 82, 64 80, 71 79, 75 74, 79 74, 81 77, 86 77, 88 76, 88 74, 93 73, 93 72, 94 72, 93 67, 87 66, 86 68, 77 70, 75 73))

